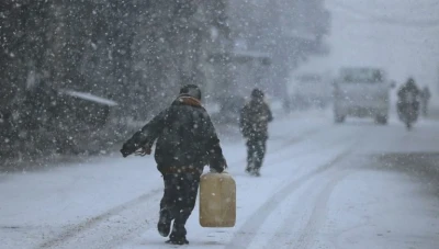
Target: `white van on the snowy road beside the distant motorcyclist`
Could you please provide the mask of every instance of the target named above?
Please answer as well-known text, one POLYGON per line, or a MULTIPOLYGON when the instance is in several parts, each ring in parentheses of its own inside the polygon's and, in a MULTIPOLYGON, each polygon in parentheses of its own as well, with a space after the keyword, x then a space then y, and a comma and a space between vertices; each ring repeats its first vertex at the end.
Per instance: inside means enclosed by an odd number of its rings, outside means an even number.
POLYGON ((386 124, 391 82, 379 68, 342 68, 334 82, 334 116, 341 123, 347 116, 373 117, 386 124))

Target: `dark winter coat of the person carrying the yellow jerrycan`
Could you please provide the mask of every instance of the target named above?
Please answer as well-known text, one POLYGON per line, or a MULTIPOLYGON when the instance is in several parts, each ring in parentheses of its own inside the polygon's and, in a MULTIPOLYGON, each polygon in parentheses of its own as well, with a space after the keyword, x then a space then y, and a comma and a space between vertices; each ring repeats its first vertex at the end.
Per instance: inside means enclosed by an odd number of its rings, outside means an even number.
POLYGON ((156 144, 155 159, 161 172, 173 169, 201 170, 204 166, 223 171, 225 159, 212 121, 195 98, 180 95, 124 145, 126 157, 156 144))

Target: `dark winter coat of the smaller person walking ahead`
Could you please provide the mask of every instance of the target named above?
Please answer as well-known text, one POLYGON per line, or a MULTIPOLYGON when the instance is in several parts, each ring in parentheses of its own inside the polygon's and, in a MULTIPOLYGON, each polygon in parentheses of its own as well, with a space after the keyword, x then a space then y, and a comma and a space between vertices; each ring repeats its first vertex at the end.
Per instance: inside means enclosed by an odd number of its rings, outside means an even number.
POLYGON ((267 139, 268 123, 272 120, 270 107, 263 99, 252 98, 240 112, 240 131, 248 139, 267 139))

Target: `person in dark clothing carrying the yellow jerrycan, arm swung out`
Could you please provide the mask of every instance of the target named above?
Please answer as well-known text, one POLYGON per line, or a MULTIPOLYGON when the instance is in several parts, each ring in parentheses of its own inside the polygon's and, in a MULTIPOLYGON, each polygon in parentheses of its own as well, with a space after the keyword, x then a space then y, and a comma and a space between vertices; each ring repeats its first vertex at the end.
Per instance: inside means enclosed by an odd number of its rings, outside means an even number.
POLYGON ((149 155, 156 140, 155 159, 165 182, 157 228, 164 237, 171 233, 167 242, 189 244, 184 225, 195 205, 204 166, 210 165, 211 171, 216 172, 227 168, 196 86, 182 87, 172 104, 136 132, 121 152, 123 157, 135 151, 149 155))

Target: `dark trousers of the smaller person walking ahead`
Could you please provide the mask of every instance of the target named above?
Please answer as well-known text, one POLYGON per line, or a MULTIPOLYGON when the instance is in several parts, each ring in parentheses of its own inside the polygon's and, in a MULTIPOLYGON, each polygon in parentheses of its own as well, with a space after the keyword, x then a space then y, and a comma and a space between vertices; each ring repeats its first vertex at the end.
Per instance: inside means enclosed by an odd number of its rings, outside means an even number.
POLYGON ((247 170, 259 171, 266 156, 267 139, 250 138, 247 140, 247 170))

